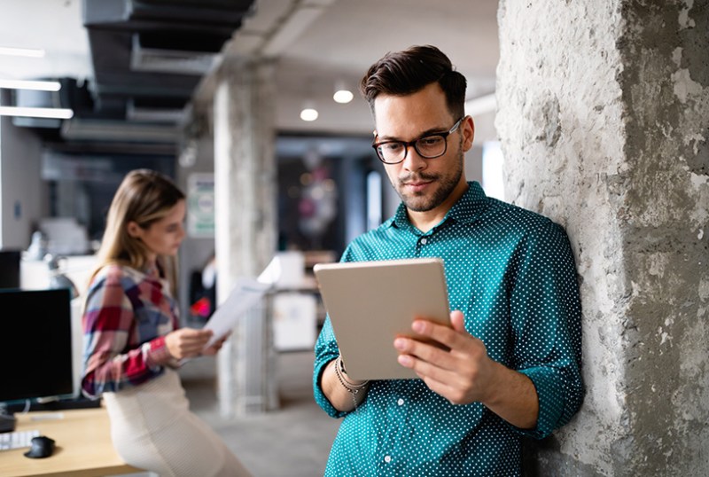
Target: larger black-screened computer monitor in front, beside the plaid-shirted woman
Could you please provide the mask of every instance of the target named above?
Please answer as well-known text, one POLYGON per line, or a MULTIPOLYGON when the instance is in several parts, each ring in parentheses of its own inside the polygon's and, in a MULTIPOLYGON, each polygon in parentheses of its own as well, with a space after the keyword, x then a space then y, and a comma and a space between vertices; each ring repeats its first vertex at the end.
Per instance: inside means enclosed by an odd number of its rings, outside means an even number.
POLYGON ((74 395, 71 291, 0 290, 0 403, 74 395))

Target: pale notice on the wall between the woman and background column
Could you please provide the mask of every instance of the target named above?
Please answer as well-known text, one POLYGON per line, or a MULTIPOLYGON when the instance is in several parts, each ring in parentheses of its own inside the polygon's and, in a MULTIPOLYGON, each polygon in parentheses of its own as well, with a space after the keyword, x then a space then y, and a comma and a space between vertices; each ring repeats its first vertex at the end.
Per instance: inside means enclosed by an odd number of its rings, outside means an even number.
POLYGON ((187 177, 187 234, 214 237, 214 174, 194 173, 187 177))

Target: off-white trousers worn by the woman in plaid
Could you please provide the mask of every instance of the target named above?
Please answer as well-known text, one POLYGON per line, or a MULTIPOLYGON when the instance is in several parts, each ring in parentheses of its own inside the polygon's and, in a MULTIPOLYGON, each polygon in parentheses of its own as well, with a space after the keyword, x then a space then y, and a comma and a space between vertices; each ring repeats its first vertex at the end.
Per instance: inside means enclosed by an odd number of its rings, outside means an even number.
POLYGON ((166 369, 142 385, 105 393, 111 438, 129 465, 160 477, 245 477, 244 465, 189 409, 180 377, 166 369))

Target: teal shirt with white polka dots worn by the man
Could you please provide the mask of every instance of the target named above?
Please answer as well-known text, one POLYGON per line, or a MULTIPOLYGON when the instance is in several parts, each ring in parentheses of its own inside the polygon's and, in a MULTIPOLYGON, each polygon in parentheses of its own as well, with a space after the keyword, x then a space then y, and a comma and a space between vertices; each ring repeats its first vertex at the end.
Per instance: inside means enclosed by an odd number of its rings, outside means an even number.
POLYGON ((471 182, 431 231, 411 225, 401 204, 355 238, 341 261, 412 257, 443 259, 450 309, 464 312, 465 328, 492 359, 532 379, 537 426, 519 429, 480 403, 448 403, 421 379, 372 381, 357 410, 335 410, 318 383, 339 355, 328 317, 316 341, 313 386, 320 407, 343 420, 325 475, 521 475, 523 436, 541 439, 563 426, 583 397, 579 288, 566 233, 471 182))

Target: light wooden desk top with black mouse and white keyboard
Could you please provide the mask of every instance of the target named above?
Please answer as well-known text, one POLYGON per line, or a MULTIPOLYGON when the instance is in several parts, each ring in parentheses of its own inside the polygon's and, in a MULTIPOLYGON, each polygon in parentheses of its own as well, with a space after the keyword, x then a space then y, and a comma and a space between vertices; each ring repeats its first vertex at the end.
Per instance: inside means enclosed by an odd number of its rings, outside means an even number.
POLYGON ((29 458, 28 448, 0 450, 0 475, 88 477, 143 472, 125 464, 113 450, 105 408, 16 414, 15 430, 37 429, 54 439, 51 457, 29 458), (63 418, 58 418, 63 416, 63 418))

